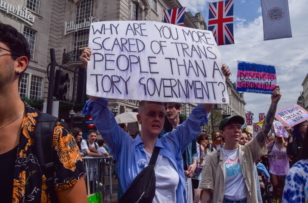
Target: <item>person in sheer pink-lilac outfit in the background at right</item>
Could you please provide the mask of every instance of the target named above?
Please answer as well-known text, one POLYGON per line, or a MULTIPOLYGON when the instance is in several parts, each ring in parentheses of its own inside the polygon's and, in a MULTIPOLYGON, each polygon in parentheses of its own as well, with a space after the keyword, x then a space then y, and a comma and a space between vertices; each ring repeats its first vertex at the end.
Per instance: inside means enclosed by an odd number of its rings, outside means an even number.
POLYGON ((269 172, 272 174, 274 202, 276 203, 278 202, 278 188, 280 191, 280 198, 282 198, 283 186, 290 166, 286 153, 287 144, 283 142, 283 137, 275 136, 275 138, 276 141, 271 141, 267 144, 267 148, 271 151, 269 172))

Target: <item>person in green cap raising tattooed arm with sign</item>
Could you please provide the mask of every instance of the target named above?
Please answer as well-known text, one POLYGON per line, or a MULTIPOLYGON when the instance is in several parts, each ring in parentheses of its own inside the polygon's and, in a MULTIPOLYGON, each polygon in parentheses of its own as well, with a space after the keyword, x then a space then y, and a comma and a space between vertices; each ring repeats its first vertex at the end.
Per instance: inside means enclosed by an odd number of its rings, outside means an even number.
POLYGON ((205 161, 200 185, 203 189, 202 202, 258 201, 253 162, 267 153, 265 138, 272 127, 280 98, 279 85, 275 85, 261 131, 244 146, 238 144, 244 118, 233 116, 221 120, 219 129, 225 138, 225 146, 217 153, 211 153, 205 161))

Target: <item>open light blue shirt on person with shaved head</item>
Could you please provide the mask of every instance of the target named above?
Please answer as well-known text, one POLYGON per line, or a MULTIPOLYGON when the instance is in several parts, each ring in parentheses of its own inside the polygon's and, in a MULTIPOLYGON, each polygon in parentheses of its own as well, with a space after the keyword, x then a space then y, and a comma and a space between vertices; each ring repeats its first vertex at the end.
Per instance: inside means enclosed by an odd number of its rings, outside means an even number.
MULTIPOLYGON (((135 140, 128 136, 116 123, 107 104, 106 98, 88 100, 83 108, 83 115, 91 113, 93 123, 107 142, 110 152, 118 161, 119 178, 125 192, 135 177, 144 169, 146 152, 143 149, 144 143, 140 136, 138 135, 135 140)), ((156 140, 155 146, 161 148, 159 154, 172 162, 180 177, 176 189, 176 202, 186 202, 182 152, 187 148, 189 142, 201 133, 200 126, 204 126, 208 120, 209 115, 203 106, 198 104, 175 131, 168 132, 161 139, 156 140)))

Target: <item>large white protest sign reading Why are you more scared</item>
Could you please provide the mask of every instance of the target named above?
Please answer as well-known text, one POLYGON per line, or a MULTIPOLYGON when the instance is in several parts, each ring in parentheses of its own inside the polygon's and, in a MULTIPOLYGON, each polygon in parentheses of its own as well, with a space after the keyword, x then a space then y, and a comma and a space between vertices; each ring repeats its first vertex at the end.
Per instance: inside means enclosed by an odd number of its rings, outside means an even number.
POLYGON ((212 32, 154 21, 91 23, 87 94, 114 99, 229 103, 212 32))

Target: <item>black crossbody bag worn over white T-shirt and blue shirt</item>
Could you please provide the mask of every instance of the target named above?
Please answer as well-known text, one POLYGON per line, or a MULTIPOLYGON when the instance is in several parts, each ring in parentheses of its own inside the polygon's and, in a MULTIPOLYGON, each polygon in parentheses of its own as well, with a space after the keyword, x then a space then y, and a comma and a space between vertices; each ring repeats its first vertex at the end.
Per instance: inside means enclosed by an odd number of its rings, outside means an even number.
POLYGON ((155 196, 156 177, 155 164, 160 147, 155 147, 149 165, 145 167, 134 179, 129 188, 120 197, 119 203, 148 203, 155 196))

